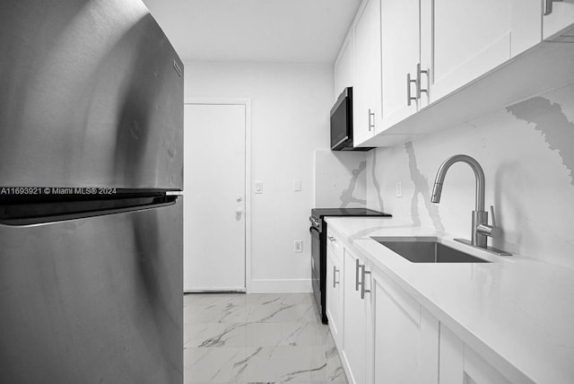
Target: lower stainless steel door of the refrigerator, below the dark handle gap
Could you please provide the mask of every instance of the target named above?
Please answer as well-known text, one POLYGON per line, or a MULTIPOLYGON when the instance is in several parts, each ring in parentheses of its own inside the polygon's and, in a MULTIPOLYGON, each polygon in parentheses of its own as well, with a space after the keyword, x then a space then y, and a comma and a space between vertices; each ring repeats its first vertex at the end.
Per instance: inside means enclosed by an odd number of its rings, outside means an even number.
POLYGON ((0 224, 0 382, 183 382, 182 206, 0 224))

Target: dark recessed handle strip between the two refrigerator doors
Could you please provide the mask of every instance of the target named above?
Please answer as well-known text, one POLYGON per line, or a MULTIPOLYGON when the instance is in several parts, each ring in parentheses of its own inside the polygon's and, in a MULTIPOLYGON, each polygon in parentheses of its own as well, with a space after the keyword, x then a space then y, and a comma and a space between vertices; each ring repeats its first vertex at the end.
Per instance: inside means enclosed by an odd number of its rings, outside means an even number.
POLYGON ((174 205, 177 195, 0 205, 0 225, 30 226, 174 205))

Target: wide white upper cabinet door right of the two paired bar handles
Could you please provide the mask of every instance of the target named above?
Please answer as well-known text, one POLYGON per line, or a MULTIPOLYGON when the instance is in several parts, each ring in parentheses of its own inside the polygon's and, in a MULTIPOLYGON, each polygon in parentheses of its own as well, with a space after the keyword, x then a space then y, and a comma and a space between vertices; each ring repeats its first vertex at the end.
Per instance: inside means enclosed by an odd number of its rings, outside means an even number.
POLYGON ((431 34, 431 101, 473 82, 541 39, 536 22, 540 0, 434 0, 429 9, 431 15, 422 17, 431 18, 431 31, 422 34, 431 34))

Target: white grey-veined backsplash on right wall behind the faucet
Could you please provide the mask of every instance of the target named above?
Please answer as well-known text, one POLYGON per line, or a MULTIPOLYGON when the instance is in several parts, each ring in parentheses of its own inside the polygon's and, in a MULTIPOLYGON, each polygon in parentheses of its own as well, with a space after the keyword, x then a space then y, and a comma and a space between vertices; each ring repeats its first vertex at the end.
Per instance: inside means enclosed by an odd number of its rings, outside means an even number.
MULTIPOLYGON (((503 230, 494 247, 574 268, 574 84, 458 127, 367 154, 367 205, 413 224, 470 238, 474 173, 448 170, 431 203, 439 165, 468 154, 483 166, 486 209, 503 230), (403 196, 396 196, 396 182, 403 196)), ((489 214, 490 215, 490 214, 489 214)))

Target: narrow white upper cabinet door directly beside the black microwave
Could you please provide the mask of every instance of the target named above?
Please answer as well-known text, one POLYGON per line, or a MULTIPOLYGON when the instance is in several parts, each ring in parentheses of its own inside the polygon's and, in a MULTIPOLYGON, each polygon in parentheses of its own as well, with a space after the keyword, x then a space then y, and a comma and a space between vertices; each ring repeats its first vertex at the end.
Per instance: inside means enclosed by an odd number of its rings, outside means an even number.
POLYGON ((365 0, 352 26, 355 48, 353 144, 375 135, 380 120, 380 0, 365 0))

